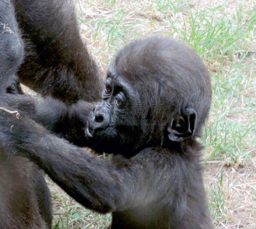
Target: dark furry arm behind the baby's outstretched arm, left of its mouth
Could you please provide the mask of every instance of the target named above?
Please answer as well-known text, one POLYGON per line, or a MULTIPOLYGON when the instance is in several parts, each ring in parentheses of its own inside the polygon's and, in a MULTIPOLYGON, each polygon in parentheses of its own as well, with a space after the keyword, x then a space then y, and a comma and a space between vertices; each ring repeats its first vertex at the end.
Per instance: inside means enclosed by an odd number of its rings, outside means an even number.
POLYGON ((0 107, 11 107, 11 111, 23 112, 57 136, 77 146, 87 145, 85 129, 92 110, 91 106, 91 103, 82 100, 67 106, 59 99, 52 97, 38 99, 25 94, 1 96, 0 105, 0 107))

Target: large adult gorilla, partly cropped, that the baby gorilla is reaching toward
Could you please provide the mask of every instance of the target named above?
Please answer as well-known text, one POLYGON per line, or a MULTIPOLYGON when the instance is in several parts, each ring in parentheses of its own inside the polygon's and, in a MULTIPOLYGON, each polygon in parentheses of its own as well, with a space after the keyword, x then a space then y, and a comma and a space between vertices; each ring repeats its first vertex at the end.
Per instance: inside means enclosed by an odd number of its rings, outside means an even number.
MULTIPOLYGON (((16 94, 7 95, 12 107, 84 146, 90 104, 83 100, 100 97, 100 80, 79 35, 74 1, 0 0, 0 74, 0 94, 16 94), (19 80, 45 99, 17 95, 19 80)), ((2 147, 0 159, 0 228, 50 228, 51 196, 42 172, 2 147)))

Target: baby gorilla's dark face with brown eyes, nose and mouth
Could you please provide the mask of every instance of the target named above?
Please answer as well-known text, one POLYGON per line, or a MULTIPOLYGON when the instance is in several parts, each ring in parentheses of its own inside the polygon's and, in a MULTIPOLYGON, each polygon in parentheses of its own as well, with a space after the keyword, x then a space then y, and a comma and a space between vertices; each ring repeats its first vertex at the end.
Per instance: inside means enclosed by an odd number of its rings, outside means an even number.
MULTIPOLYGON (((102 101, 95 105, 86 130, 92 137, 96 151, 119 154, 123 150, 128 155, 140 146, 143 113, 138 109, 138 99, 134 98, 131 89, 122 76, 113 75, 108 71, 108 77, 102 93, 102 101), (136 110, 135 107, 136 105, 136 110)), ((145 108, 145 107, 144 107, 145 108)))

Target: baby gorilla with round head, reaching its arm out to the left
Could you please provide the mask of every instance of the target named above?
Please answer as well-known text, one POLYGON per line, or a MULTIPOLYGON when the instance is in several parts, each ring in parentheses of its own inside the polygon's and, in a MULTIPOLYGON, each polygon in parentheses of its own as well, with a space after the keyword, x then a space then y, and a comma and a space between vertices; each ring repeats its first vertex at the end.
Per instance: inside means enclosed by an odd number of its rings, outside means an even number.
MULTIPOLYGON (((212 229, 196 141, 211 95, 209 73, 193 50, 150 37, 117 53, 86 130, 97 152, 124 157, 92 155, 24 111, 17 119, 0 110, 0 139, 86 208, 111 211, 112 229, 212 229)), ((6 98, 0 107, 16 109, 6 98)))

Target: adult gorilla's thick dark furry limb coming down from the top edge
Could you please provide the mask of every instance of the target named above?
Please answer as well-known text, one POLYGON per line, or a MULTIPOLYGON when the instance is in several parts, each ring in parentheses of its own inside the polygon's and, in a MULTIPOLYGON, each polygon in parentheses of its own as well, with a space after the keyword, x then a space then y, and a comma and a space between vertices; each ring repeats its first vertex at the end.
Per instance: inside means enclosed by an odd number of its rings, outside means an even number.
POLYGON ((70 104, 100 98, 99 70, 83 43, 73 0, 15 0, 17 21, 28 41, 21 83, 70 104))

